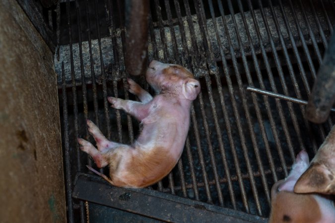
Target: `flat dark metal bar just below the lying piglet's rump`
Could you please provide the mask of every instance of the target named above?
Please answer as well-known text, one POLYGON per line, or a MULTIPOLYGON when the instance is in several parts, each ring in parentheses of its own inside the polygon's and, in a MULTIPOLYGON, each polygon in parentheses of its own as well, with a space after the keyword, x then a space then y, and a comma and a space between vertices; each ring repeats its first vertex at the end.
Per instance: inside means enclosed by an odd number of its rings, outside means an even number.
POLYGON ((268 220, 154 190, 112 187, 101 178, 88 174, 77 176, 73 197, 164 222, 266 223, 268 220))

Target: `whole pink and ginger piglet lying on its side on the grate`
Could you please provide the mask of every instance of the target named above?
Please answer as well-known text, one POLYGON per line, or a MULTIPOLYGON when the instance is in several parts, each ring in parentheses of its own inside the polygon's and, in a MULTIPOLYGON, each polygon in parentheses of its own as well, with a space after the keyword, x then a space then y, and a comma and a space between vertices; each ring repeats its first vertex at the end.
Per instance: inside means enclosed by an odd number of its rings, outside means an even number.
POLYGON ((131 79, 128 79, 129 91, 140 102, 108 98, 112 108, 124 110, 141 122, 141 133, 133 145, 107 140, 90 120, 87 120, 88 131, 97 149, 88 141, 78 139, 80 149, 93 158, 97 167, 109 165, 110 178, 89 168, 115 186, 151 185, 172 170, 183 152, 191 103, 200 92, 199 81, 180 65, 156 60, 149 64, 146 80, 158 93, 154 98, 131 79))

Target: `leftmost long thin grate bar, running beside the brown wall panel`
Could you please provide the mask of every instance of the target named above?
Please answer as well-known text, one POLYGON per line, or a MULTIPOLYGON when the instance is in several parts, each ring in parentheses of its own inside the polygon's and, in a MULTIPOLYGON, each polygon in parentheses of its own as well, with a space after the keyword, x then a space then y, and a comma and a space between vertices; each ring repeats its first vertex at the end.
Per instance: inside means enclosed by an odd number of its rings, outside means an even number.
POLYGON ((68 114, 67 114, 67 88, 65 84, 64 63, 62 62, 62 99, 63 99, 63 120, 64 120, 64 150, 65 150, 65 170, 66 170, 66 190, 67 190, 67 221, 73 223, 73 202, 72 202, 72 180, 70 145, 68 139, 68 114))

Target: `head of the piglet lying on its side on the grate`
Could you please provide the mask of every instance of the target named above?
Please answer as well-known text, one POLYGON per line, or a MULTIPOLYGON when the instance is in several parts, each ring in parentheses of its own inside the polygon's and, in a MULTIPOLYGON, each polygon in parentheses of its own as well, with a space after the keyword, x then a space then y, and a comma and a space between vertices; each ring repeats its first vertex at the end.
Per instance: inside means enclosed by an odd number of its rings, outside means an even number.
POLYGON ((146 70, 146 80, 157 93, 169 93, 193 101, 200 92, 200 83, 180 65, 152 60, 146 70))

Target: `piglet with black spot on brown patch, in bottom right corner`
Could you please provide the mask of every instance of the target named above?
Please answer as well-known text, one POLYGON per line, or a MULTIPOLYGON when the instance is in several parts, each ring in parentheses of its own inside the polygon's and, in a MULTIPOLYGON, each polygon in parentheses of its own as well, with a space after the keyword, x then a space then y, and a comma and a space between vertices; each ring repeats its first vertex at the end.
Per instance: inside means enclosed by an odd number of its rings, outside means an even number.
POLYGON ((309 158, 303 150, 288 177, 272 186, 269 223, 335 223, 334 201, 330 196, 293 192, 298 178, 308 167, 309 158))

